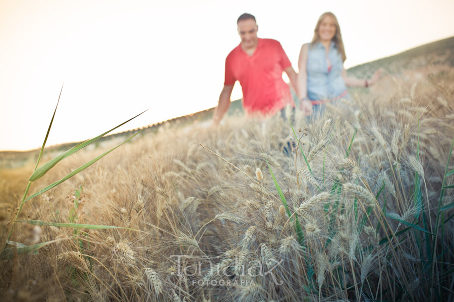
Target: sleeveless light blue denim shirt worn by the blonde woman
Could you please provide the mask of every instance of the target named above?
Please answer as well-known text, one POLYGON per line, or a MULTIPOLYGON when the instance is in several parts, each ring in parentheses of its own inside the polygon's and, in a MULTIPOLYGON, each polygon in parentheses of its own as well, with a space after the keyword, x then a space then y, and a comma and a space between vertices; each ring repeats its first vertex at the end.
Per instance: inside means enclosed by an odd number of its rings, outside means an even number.
POLYGON ((346 93, 347 87, 342 78, 344 62, 335 43, 329 45, 328 58, 331 69, 328 71, 325 47, 318 42, 308 45, 307 52, 307 97, 310 100, 333 100, 346 93))

